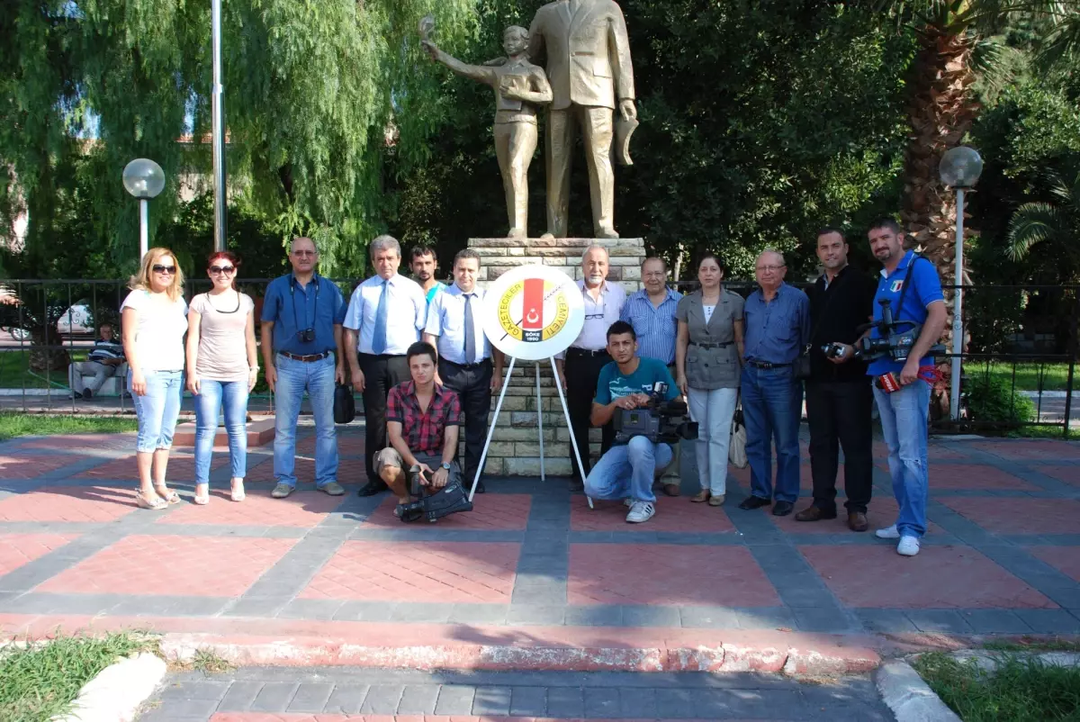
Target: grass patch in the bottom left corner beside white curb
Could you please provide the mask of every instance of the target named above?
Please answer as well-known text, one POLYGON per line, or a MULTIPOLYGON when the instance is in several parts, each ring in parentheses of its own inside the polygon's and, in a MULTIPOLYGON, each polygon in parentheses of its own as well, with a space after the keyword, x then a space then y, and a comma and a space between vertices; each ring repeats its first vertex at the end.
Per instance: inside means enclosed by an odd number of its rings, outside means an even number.
POLYGON ((95 639, 59 637, 0 650, 0 720, 42 722, 67 710, 82 685, 118 657, 153 652, 157 642, 120 632, 95 639))

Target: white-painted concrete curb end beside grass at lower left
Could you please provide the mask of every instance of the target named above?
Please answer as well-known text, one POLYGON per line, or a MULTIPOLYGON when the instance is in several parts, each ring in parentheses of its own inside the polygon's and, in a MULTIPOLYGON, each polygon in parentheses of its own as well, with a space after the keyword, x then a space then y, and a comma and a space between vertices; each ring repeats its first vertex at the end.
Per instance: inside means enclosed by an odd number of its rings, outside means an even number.
POLYGON ((149 652, 109 665, 83 685, 68 714, 53 722, 131 722, 165 677, 165 663, 149 652))

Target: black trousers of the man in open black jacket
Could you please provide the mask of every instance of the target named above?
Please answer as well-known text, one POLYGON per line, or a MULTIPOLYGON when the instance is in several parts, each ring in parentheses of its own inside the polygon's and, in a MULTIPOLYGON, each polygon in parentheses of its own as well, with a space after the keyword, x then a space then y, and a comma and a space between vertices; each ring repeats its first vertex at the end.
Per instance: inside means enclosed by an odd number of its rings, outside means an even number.
POLYGON ((836 509, 836 472, 843 447, 843 491, 848 511, 865 513, 874 483, 874 392, 866 380, 815 382, 807 385, 807 420, 810 425, 810 470, 813 503, 825 511, 836 509))

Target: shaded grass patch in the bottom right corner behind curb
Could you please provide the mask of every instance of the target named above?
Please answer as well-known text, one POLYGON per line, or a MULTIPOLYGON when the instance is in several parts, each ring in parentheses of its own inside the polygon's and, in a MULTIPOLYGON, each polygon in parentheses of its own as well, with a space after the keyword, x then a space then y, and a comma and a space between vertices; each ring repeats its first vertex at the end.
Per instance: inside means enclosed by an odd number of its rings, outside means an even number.
POLYGON ((1080 720, 1080 669, 1048 667, 1002 653, 996 671, 933 652, 915 668, 963 722, 1055 722, 1080 720))

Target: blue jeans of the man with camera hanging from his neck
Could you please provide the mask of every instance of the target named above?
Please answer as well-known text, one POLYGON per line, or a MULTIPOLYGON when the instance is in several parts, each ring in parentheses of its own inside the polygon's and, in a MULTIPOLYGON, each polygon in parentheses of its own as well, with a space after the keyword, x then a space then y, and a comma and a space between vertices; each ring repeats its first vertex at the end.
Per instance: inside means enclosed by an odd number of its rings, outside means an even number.
POLYGON ((296 422, 307 389, 315 418, 315 485, 337 481, 337 429, 334 428, 334 355, 305 363, 278 355, 274 400, 273 476, 296 486, 296 422))

